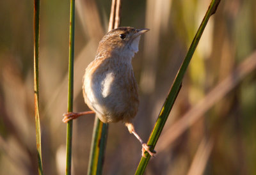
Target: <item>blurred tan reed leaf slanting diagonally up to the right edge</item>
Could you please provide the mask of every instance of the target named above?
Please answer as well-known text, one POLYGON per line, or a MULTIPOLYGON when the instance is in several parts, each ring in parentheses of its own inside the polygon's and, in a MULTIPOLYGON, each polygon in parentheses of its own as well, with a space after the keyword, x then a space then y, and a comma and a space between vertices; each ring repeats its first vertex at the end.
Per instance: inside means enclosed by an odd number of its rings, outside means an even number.
POLYGON ((247 57, 242 63, 237 66, 234 72, 230 73, 226 79, 220 82, 212 89, 205 98, 200 100, 192 107, 182 118, 176 121, 168 128, 159 138, 156 150, 158 152, 166 149, 179 137, 189 126, 193 125, 200 117, 204 115, 216 102, 227 95, 236 85, 244 79, 246 75, 251 73, 256 68, 256 52, 247 57))

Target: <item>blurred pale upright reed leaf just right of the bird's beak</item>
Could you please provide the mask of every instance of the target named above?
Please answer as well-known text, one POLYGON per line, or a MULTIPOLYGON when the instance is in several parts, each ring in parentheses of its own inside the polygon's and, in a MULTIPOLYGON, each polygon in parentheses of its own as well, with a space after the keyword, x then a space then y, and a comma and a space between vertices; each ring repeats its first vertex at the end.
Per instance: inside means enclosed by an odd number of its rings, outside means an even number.
POLYGON ((159 61, 159 40, 166 31, 170 14, 171 0, 148 0, 146 24, 150 34, 145 35, 143 67, 140 78, 140 89, 143 93, 152 93, 156 86, 157 61, 159 61))

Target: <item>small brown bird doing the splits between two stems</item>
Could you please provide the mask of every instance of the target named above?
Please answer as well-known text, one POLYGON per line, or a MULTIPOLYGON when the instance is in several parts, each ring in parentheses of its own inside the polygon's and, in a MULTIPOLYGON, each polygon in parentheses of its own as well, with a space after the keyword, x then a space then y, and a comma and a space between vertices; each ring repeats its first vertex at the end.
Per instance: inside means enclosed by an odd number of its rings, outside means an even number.
POLYGON ((95 59, 83 77, 84 102, 92 111, 68 112, 63 122, 85 114, 96 113, 103 123, 123 121, 142 145, 142 156, 147 151, 154 156, 135 132, 132 119, 139 106, 138 86, 132 70, 132 57, 138 52, 141 34, 149 29, 120 27, 109 31, 99 43, 95 59))

